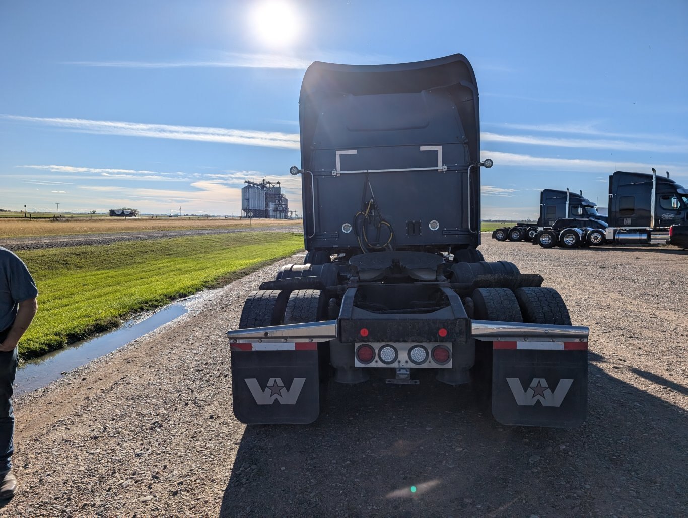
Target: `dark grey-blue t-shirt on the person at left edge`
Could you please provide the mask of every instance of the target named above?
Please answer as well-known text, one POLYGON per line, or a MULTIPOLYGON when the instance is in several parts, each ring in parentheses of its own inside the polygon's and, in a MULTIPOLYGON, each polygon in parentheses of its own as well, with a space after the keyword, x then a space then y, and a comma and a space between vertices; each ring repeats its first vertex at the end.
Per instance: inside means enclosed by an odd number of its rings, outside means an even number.
POLYGON ((34 299, 38 294, 24 261, 0 246, 0 331, 14 322, 19 302, 34 299))

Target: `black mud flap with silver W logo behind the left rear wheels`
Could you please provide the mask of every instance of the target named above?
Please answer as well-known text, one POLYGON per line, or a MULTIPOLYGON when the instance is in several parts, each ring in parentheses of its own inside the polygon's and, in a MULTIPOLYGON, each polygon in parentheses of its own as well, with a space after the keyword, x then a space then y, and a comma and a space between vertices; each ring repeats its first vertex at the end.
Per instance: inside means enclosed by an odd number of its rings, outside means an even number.
POLYGON ((318 352, 233 351, 232 392, 243 423, 312 423, 320 413, 318 352))

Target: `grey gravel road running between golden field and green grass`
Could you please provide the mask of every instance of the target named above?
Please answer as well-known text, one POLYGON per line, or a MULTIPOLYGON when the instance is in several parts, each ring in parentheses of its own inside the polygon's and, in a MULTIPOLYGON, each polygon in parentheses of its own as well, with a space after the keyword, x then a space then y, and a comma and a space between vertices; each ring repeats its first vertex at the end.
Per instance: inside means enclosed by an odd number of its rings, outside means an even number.
POLYGON ((165 239, 191 235, 231 234, 235 232, 300 232, 301 224, 284 226, 251 226, 244 228, 192 228, 189 230, 146 230, 142 232, 110 232, 98 234, 70 234, 56 236, 17 237, 0 240, 0 246, 16 252, 17 250, 37 250, 39 248, 62 248, 65 246, 109 245, 118 241, 140 241, 142 239, 165 239))

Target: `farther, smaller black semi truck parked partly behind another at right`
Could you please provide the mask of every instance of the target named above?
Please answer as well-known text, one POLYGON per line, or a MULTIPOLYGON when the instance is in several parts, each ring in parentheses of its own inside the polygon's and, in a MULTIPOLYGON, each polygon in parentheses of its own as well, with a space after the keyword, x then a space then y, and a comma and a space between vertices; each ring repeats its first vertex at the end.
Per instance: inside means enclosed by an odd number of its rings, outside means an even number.
POLYGON ((607 221, 607 216, 597 212, 596 204, 580 194, 572 193, 569 188, 566 191, 557 189, 544 189, 540 191, 540 215, 537 224, 519 222, 511 226, 496 228, 492 232, 492 238, 497 241, 533 241, 538 230, 550 228, 557 219, 561 218, 591 218, 602 222, 607 221))

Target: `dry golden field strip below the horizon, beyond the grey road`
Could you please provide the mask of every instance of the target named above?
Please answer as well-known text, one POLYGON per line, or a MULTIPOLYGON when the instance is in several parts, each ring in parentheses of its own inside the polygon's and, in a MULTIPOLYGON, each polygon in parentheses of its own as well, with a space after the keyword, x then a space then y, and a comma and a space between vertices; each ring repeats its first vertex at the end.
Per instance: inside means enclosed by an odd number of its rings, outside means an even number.
POLYGON ((0 219, 0 239, 65 234, 98 234, 107 232, 140 232, 142 230, 189 230, 193 228, 241 228, 248 226, 301 226, 301 220, 285 219, 122 219, 118 217, 74 219, 0 219))

